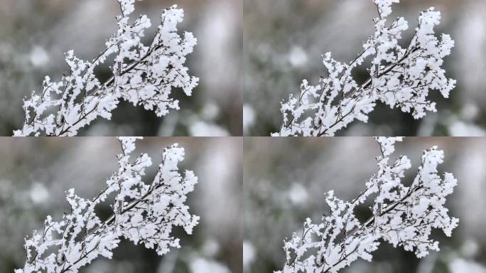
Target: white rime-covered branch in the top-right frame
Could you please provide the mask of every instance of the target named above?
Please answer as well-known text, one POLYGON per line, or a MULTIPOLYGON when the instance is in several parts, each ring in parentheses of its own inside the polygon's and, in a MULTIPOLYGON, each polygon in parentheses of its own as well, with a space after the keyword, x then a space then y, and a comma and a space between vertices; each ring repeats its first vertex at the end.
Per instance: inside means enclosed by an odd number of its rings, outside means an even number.
POLYGON ((441 21, 441 13, 430 8, 419 16, 411 42, 402 48, 398 41, 401 32, 409 28, 404 18, 387 24, 392 4, 399 0, 373 0, 379 17, 374 18, 376 32, 363 45, 363 51, 350 63, 340 63, 325 53, 323 64, 327 75, 320 77, 318 85, 303 80, 298 97, 290 95, 282 102, 282 126, 274 137, 333 136, 355 119, 367 122, 377 102, 390 108, 411 112, 415 119, 436 112, 436 103, 428 100, 431 90, 438 90, 443 97, 455 87, 455 80, 448 79, 441 68, 443 58, 450 55, 454 41, 450 36, 435 36, 434 26, 441 21), (363 65, 369 77, 358 83, 352 70, 363 65))

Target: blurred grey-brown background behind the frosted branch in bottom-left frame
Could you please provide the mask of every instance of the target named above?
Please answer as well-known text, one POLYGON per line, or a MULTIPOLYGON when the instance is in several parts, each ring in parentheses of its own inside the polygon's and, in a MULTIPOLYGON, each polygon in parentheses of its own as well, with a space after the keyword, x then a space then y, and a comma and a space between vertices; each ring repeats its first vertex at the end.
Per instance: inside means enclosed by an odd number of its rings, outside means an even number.
MULTIPOLYGON (((163 257, 122 241, 112 260, 95 259, 80 272, 242 272, 242 139, 137 141, 134 154, 147 153, 153 161, 145 181, 155 175, 162 149, 173 143, 185 148, 180 170, 193 170, 199 178, 187 201, 190 213, 200 216, 193 235, 175 228, 181 248, 163 257)), ((23 238, 41 230, 46 215, 62 218, 69 209, 65 191, 75 188, 83 198, 96 196, 117 171, 115 156, 120 152, 119 142, 111 137, 0 138, 0 272, 23 267, 23 238)))

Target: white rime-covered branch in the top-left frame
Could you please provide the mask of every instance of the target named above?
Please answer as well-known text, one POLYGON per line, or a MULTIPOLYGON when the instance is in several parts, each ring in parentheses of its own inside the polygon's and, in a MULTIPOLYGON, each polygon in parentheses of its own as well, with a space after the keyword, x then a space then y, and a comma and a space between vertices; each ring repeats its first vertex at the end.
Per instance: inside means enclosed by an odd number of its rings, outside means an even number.
POLYGON ((66 53, 69 75, 53 82, 46 76, 43 90, 32 92, 24 100, 26 120, 15 136, 74 136, 77 131, 98 117, 111 119, 120 100, 142 105, 158 117, 169 109, 179 109, 173 99, 173 88, 182 88, 191 95, 198 77, 188 75, 185 56, 193 52, 197 40, 190 32, 181 37, 177 24, 183 21, 183 10, 172 6, 162 12, 162 20, 149 45, 141 43, 144 31, 151 26, 146 15, 130 18, 134 0, 117 0, 122 15, 117 16, 118 31, 106 48, 91 62, 66 53), (112 77, 99 82, 95 69, 114 54, 112 77))

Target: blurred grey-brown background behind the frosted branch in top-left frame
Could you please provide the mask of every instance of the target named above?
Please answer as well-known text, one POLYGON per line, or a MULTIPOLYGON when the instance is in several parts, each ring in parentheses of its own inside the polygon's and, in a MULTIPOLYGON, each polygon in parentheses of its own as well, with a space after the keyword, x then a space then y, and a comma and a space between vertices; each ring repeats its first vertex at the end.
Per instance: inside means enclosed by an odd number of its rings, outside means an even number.
MULTIPOLYGON (((180 110, 165 117, 121 102, 112 121, 97 119, 80 135, 227 136, 242 135, 242 2, 239 0, 136 1, 133 16, 147 14, 153 36, 161 10, 178 4, 185 11, 179 30, 198 38, 188 55, 190 75, 200 77, 193 96, 173 95, 180 110)), ((22 99, 41 91, 68 69, 64 53, 92 60, 117 29, 115 0, 2 0, 0 5, 0 135, 10 136, 24 120, 22 99)), ((110 73, 107 64, 100 73, 110 73)))

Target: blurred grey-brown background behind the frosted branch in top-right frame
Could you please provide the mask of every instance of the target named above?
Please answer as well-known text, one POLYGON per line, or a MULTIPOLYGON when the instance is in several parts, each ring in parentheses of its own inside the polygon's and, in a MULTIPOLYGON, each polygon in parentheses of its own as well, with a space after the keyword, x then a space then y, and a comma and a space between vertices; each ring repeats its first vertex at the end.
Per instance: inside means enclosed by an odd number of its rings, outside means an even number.
MULTIPOLYGON (((392 6, 403 16, 408 43, 421 11, 435 6, 443 19, 436 33, 455 40, 445 58, 448 77, 458 81, 448 100, 431 92, 438 113, 414 120, 379 104, 369 123, 353 122, 341 136, 482 136, 486 133, 486 1, 402 0, 392 6)), ((244 0, 244 135, 268 136, 281 126, 280 102, 298 94, 303 79, 318 82, 320 56, 328 51, 349 62, 374 33, 377 11, 371 0, 244 0)), ((365 76, 365 70, 357 71, 365 76)))

